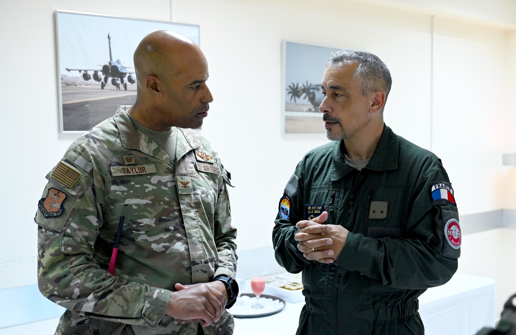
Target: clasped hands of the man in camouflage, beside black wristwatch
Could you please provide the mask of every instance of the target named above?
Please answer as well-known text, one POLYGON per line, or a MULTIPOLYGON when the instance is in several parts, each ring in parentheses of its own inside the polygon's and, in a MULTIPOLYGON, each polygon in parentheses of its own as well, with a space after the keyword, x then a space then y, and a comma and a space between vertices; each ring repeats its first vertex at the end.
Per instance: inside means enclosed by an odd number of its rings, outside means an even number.
POLYGON ((174 323, 201 323, 206 327, 219 321, 228 301, 224 283, 212 282, 193 285, 175 284, 176 292, 170 292, 165 313, 174 318, 174 323))

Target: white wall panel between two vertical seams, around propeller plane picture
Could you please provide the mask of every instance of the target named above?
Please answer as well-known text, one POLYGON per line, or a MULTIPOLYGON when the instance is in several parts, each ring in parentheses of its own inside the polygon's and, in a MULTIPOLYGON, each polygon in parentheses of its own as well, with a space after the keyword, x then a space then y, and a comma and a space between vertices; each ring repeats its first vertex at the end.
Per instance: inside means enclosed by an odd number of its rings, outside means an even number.
POLYGON ((240 248, 271 245, 272 220, 286 181, 304 153, 328 142, 324 136, 281 137, 282 40, 377 54, 393 74, 386 122, 429 147, 428 16, 356 3, 334 3, 328 11, 312 1, 180 0, 173 2, 172 13, 175 22, 201 24, 208 85, 215 97, 203 133, 232 173, 231 207, 240 248))

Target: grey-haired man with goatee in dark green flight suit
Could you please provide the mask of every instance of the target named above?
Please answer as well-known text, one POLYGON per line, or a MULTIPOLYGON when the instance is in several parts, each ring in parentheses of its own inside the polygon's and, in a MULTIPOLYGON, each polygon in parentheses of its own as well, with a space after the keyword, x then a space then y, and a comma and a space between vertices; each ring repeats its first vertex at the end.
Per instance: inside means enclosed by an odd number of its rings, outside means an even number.
POLYGON ((298 334, 424 334, 418 300, 457 270, 461 235, 441 160, 383 122, 391 75, 375 55, 332 54, 322 78, 327 136, 297 165, 272 232, 302 271, 298 334))

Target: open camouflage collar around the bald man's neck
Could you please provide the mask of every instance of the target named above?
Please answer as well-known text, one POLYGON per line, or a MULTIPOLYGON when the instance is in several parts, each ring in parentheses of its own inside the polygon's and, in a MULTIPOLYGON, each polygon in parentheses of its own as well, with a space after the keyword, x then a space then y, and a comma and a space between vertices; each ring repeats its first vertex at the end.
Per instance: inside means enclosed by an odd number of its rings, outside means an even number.
MULTIPOLYGON (((143 132, 136 129, 133 122, 127 115, 127 109, 130 106, 119 106, 117 112, 113 116, 117 123, 118 131, 120 132, 120 141, 127 149, 140 150, 142 153, 150 155, 154 158, 164 161, 168 165, 173 166, 172 159, 165 153, 159 145, 143 132)), ((195 149, 201 145, 197 138, 187 136, 185 130, 178 128, 178 141, 176 141, 175 161, 178 161, 190 150, 195 149), (180 136, 182 135, 182 136, 180 136)))

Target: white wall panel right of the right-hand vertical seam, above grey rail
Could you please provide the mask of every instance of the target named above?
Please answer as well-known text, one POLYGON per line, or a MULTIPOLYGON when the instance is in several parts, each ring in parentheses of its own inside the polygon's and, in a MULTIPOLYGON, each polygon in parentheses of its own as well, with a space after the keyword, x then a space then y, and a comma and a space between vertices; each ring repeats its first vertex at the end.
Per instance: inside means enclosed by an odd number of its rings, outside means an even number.
POLYGON ((444 19, 434 27, 433 152, 460 214, 502 208, 506 32, 444 19))

